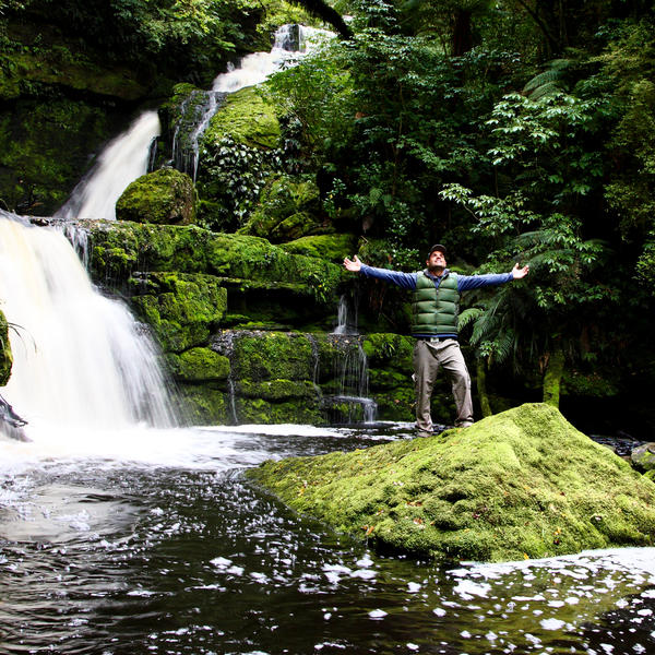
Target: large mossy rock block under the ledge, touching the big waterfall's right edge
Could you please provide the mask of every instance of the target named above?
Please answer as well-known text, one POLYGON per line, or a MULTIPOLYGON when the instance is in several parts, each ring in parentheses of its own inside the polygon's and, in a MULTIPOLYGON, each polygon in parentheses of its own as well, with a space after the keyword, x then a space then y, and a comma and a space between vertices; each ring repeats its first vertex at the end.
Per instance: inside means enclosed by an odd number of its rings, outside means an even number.
POLYGON ((211 275, 148 273, 131 286, 132 307, 168 353, 204 345, 225 313, 227 291, 211 275))

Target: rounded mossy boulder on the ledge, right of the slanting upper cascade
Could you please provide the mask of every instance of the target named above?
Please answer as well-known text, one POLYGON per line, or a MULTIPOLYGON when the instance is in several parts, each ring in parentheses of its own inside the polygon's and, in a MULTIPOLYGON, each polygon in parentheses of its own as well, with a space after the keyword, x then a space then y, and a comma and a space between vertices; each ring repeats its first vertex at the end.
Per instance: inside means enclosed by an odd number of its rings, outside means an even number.
POLYGON ((116 203, 119 221, 189 225, 195 221, 193 180, 172 168, 148 172, 131 182, 116 203))

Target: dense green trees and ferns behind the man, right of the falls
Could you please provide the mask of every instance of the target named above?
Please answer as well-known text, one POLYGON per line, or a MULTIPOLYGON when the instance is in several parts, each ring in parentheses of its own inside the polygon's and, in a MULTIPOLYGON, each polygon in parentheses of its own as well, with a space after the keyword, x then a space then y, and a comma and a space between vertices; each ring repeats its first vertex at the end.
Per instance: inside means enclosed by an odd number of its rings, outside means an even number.
POLYGON ((349 9, 352 39, 270 84, 325 212, 378 241, 366 249, 376 265, 415 270, 434 241, 467 273, 529 263, 528 279, 471 295, 463 323, 488 364, 512 364, 528 384, 546 374, 546 400, 557 402, 568 371, 595 376, 592 394, 607 395, 604 377, 616 392, 617 364, 629 373, 622 391, 628 380, 644 383, 655 263, 652 3, 349 9))

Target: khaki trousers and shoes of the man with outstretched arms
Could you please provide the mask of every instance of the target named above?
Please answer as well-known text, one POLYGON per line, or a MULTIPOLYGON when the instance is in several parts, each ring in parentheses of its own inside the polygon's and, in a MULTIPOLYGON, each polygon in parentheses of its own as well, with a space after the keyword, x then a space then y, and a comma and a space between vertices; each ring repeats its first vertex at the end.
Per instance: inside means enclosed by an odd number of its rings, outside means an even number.
POLYGON ((451 381, 457 417, 455 426, 466 427, 473 422, 471 376, 454 338, 445 341, 416 340, 414 346, 414 390, 416 392, 416 427, 419 436, 432 433, 430 400, 439 368, 443 367, 451 381))

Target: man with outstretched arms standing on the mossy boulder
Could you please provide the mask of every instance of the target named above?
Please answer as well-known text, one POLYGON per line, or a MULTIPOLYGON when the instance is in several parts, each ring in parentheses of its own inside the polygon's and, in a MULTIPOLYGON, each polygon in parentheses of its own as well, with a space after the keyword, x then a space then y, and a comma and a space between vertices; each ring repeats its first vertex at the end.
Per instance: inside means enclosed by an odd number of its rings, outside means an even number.
POLYGON ((416 392, 416 427, 419 437, 432 433, 430 400, 440 367, 445 370, 453 389, 457 408, 455 426, 467 428, 473 424, 471 376, 457 343, 460 295, 483 286, 497 286, 521 279, 529 271, 516 264, 510 273, 488 275, 458 275, 445 266, 445 248, 432 246, 426 260, 427 269, 417 273, 401 273, 362 264, 357 255, 344 259, 344 266, 354 273, 390 282, 414 291, 412 336, 414 346, 414 388, 416 392))

